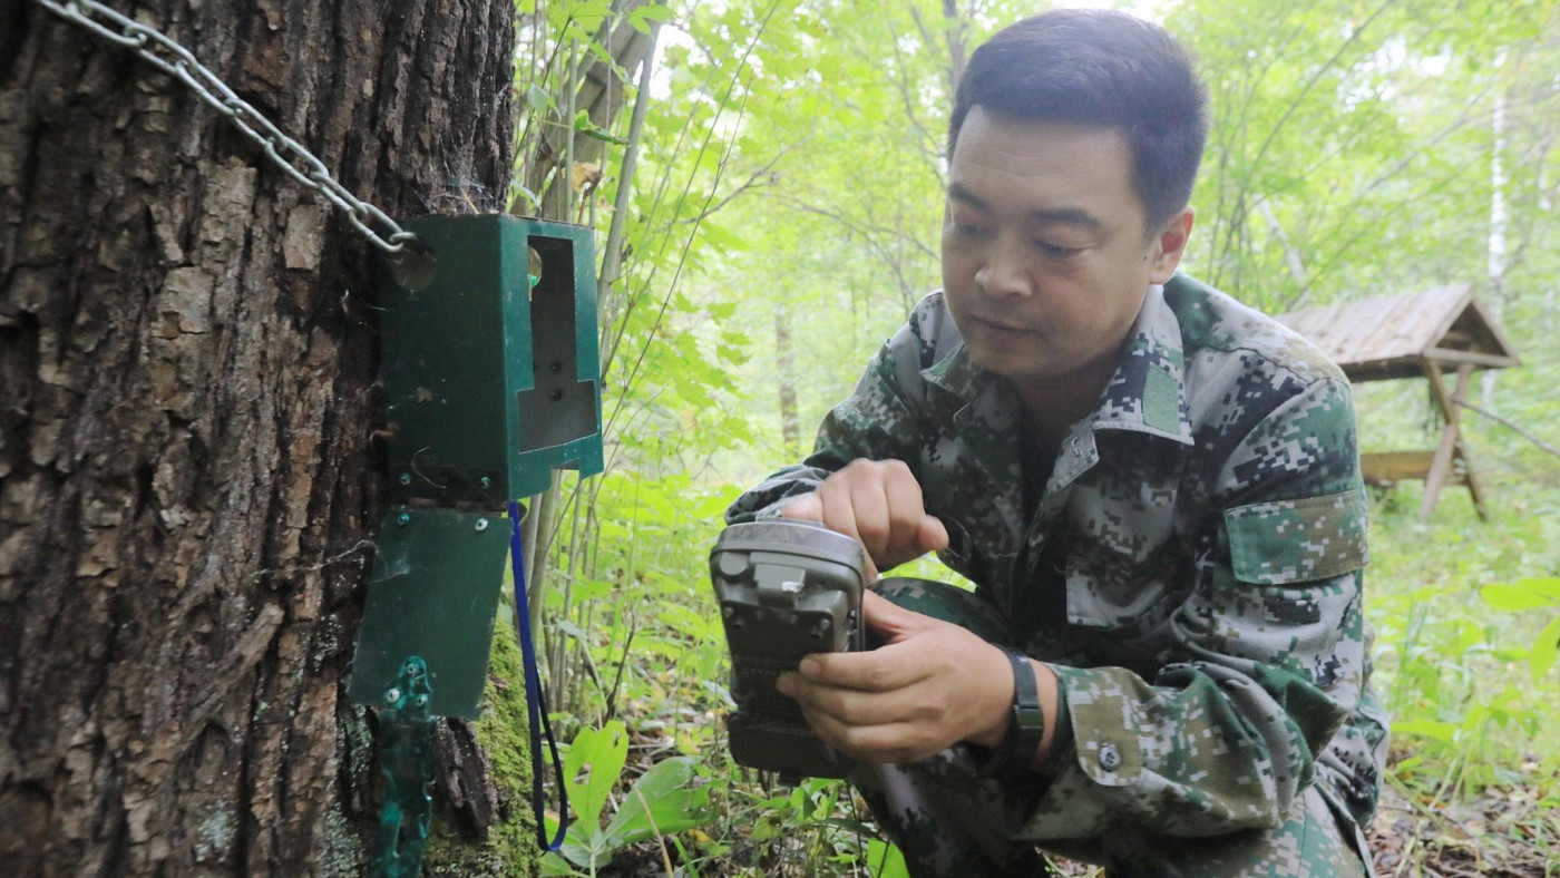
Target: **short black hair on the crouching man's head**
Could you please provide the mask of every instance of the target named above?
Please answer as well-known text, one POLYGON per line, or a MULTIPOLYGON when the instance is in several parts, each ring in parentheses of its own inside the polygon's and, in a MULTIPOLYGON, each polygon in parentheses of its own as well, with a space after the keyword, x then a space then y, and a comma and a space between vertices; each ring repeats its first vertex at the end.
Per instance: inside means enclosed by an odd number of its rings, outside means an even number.
POLYGON ((1192 198, 1207 142, 1207 90, 1159 25, 1111 9, 1053 9, 1009 25, 970 55, 959 78, 950 159, 977 106, 1120 131, 1150 232, 1192 198))

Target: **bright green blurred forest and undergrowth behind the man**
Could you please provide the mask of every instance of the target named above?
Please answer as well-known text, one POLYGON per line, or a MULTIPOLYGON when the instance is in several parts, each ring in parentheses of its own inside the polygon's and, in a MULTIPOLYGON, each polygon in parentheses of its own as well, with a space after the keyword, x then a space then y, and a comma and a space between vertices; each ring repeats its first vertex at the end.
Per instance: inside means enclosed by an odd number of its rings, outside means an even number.
MULTIPOLYGON (((521 611, 577 813, 544 870, 902 873, 847 788, 730 763, 707 549, 938 285, 950 90, 975 45, 1044 5, 519 6, 509 201, 599 231, 608 454, 534 516, 521 611)), ((1560 5, 1123 8, 1190 47, 1212 97, 1182 268, 1270 313, 1473 284, 1523 365, 1470 396, 1560 444, 1560 5)), ((1423 381, 1357 399, 1365 451, 1434 446, 1423 381)), ((1488 521, 1459 488, 1429 519, 1418 483, 1374 493, 1367 610, 1395 716, 1376 858, 1387 875, 1549 875, 1560 457, 1471 412, 1463 427, 1488 521)), ((504 862, 534 842, 529 769, 507 755, 524 733, 510 628, 496 647, 479 731, 515 794, 490 839, 504 862)))

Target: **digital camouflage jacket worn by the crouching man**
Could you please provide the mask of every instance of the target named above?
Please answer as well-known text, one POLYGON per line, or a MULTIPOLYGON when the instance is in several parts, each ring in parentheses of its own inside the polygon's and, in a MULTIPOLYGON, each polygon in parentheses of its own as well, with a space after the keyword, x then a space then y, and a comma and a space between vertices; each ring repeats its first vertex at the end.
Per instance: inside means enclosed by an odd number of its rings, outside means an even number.
POLYGON ((1072 744, 1023 837, 1275 827, 1314 780, 1367 822, 1387 720, 1367 688, 1367 502, 1338 368, 1178 274, 1148 290, 1028 516, 1017 413, 933 293, 814 452, 727 519, 778 515, 858 457, 909 465, 944 563, 1062 686, 1072 744))

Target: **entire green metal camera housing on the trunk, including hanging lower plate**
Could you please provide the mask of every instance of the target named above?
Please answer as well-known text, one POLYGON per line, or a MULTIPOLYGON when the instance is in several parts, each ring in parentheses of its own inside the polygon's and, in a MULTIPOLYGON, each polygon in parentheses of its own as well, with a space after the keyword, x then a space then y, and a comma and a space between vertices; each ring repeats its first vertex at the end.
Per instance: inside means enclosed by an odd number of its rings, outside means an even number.
MULTIPOLYGON (((513 524, 552 469, 602 469, 591 229, 507 215, 402 221, 379 271, 385 455, 353 700, 381 705, 409 657, 434 716, 476 717, 513 524)), ((524 608, 521 608, 524 613, 524 608)))

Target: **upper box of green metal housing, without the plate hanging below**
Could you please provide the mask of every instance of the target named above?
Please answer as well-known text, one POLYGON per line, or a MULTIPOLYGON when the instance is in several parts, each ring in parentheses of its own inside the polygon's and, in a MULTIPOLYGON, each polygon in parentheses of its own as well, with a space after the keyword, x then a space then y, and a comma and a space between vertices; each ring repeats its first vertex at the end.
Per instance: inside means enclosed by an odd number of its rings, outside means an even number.
POLYGON ((407 220, 431 264, 379 284, 398 499, 496 505, 602 469, 591 229, 499 214, 407 220))

